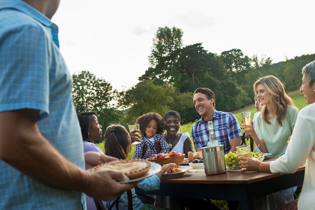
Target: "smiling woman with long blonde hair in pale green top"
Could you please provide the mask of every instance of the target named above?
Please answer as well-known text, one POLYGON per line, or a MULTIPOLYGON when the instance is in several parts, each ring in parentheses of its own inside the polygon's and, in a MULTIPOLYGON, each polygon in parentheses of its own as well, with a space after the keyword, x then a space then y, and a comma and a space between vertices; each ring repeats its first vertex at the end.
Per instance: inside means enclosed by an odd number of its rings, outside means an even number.
POLYGON ((254 139, 262 152, 279 157, 287 147, 298 110, 286 94, 282 82, 275 76, 258 79, 254 84, 254 92, 261 106, 261 114, 257 118, 255 129, 245 125, 242 128, 254 139))

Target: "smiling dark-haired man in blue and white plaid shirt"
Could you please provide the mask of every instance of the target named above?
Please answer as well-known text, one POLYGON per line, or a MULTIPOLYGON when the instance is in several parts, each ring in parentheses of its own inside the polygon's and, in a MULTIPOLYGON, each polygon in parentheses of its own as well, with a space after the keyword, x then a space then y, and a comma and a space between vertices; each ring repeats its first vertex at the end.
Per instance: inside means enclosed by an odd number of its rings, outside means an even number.
POLYGON ((196 151, 201 151, 201 147, 207 146, 208 121, 213 122, 216 140, 224 145, 224 153, 236 151, 236 147, 241 145, 242 133, 235 116, 232 113, 215 110, 215 95, 209 88, 197 88, 193 94, 193 102, 196 111, 201 115, 201 119, 191 129, 196 151))

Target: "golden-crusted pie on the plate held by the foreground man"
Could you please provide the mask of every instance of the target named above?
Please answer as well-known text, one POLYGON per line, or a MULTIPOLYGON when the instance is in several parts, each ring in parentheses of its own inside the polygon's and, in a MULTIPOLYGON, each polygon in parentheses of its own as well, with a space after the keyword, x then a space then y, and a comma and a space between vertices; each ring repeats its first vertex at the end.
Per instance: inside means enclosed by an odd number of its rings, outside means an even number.
POLYGON ((121 159, 97 165, 91 169, 91 172, 97 170, 110 170, 121 172, 128 176, 129 179, 137 179, 145 176, 150 168, 151 163, 147 160, 121 159))

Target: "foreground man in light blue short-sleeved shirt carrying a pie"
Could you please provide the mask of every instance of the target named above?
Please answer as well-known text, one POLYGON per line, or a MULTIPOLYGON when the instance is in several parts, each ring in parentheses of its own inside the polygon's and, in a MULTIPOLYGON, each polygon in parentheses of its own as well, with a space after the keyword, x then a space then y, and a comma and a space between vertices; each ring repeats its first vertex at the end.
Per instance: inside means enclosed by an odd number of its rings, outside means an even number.
POLYGON ((58 6, 0 0, 0 209, 86 209, 82 192, 109 200, 136 184, 84 170, 72 78, 50 21, 58 6))

